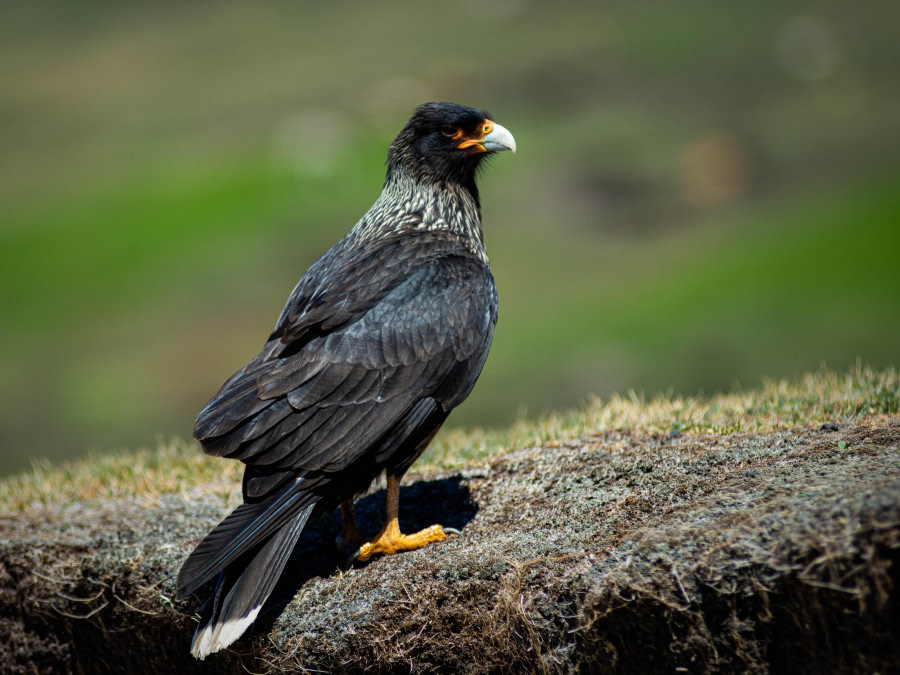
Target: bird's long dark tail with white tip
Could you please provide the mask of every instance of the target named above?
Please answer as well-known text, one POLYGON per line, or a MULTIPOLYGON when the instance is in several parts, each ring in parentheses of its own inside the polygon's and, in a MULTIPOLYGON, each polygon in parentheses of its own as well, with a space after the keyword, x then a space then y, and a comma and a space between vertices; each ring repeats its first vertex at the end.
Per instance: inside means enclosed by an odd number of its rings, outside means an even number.
POLYGON ((301 483, 302 479, 272 500, 238 506, 182 565, 179 598, 218 576, 213 598, 191 643, 191 653, 198 659, 237 640, 272 593, 319 500, 301 483))

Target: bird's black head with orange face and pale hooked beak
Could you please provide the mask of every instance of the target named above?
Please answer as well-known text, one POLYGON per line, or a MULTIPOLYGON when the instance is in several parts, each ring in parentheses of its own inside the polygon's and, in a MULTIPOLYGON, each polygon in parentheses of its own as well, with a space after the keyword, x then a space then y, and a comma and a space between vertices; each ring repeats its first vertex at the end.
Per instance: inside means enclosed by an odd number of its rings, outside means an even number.
POLYGON ((504 150, 515 152, 516 141, 489 113, 457 103, 426 103, 391 143, 388 172, 401 169, 418 180, 474 191, 481 161, 504 150))

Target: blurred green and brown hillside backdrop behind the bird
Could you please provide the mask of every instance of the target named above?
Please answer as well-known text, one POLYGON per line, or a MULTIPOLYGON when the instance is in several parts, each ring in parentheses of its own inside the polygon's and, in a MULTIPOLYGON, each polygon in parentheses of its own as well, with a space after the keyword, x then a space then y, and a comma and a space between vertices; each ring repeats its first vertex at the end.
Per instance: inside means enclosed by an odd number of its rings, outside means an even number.
POLYGON ((453 424, 896 365, 898 7, 8 3, 0 472, 188 437, 428 100, 519 144, 453 424))

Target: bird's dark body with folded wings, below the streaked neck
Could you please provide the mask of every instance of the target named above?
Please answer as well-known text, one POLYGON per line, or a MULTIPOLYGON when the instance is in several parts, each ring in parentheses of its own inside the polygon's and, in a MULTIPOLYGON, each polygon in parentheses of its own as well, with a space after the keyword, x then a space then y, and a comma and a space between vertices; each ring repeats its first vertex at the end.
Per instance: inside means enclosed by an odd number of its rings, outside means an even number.
POLYGON ((248 465, 247 501, 298 474, 318 478, 322 497, 329 484, 363 490, 385 468, 402 473, 423 434, 466 398, 496 319, 490 270, 457 237, 348 236, 300 281, 262 352, 200 413, 195 436, 207 453, 248 465))

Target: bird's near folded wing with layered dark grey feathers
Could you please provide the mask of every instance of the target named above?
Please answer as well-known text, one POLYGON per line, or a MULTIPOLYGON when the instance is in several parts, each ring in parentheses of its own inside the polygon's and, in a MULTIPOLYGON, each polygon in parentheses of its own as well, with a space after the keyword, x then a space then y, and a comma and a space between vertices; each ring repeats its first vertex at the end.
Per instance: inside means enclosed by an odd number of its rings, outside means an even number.
MULTIPOLYGON (((206 452, 253 466, 341 471, 420 400, 449 412, 465 398, 496 319, 487 267, 465 256, 429 260, 385 286, 352 323, 299 351, 266 356, 279 353, 268 345, 198 418, 206 452)), ((290 318, 281 322, 291 333, 290 318)))

